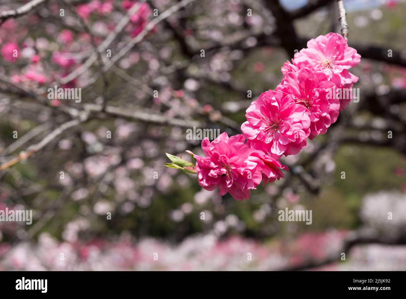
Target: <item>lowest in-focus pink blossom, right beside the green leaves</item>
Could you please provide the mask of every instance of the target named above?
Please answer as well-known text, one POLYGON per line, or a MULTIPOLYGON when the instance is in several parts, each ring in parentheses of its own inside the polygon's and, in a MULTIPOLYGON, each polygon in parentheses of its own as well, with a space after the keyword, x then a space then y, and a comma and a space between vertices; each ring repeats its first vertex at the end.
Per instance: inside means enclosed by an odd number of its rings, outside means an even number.
POLYGON ((209 191, 218 187, 220 196, 228 191, 238 201, 249 199, 250 189, 261 183, 264 163, 259 157, 250 156, 244 141, 241 134, 228 137, 227 133, 213 142, 207 137, 203 139, 206 157, 194 155, 200 186, 209 191))

